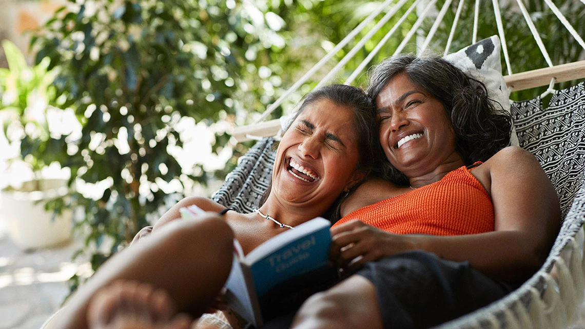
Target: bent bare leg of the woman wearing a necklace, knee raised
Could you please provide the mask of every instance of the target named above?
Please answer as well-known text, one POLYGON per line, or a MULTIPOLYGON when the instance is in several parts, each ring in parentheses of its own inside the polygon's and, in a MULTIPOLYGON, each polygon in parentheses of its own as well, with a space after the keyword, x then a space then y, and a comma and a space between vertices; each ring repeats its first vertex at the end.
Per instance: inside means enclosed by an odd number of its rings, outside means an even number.
POLYGON ((46 329, 87 328, 87 307, 95 292, 117 280, 163 289, 179 311, 198 317, 211 306, 232 266, 233 232, 221 217, 173 221, 106 262, 71 297, 46 329))

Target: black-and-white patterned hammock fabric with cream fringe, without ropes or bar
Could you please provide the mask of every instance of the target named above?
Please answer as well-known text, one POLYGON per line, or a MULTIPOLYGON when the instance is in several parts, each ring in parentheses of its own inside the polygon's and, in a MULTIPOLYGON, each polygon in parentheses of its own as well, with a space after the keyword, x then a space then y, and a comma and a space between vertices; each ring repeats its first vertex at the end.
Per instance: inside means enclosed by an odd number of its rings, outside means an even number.
MULTIPOLYGON (((540 98, 515 102, 520 146, 536 156, 559 195, 563 224, 548 258, 515 292, 440 328, 562 328, 576 320, 583 300, 585 221, 585 83, 558 91, 542 109, 540 98), (572 252, 571 252, 572 251, 572 252)), ((274 140, 261 140, 212 197, 249 213, 270 184, 274 140)))

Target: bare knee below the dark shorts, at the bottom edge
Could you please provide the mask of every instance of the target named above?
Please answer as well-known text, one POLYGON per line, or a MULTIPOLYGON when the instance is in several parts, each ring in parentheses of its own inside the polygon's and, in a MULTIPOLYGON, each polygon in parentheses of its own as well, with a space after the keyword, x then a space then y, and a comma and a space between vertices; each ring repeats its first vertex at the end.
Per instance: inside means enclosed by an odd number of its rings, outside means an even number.
POLYGON ((292 321, 293 329, 383 328, 374 285, 353 275, 304 304, 292 321))

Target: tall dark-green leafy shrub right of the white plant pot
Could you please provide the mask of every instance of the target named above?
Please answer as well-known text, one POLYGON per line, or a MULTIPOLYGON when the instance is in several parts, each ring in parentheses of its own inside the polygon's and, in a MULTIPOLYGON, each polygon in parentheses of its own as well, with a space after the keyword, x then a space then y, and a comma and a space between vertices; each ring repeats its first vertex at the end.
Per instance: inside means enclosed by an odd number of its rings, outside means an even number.
MULTIPOLYGON (((247 109, 265 108, 304 64, 278 61, 286 22, 276 12, 287 13, 284 2, 261 9, 235 1, 69 2, 31 46, 37 62, 48 57, 58 68, 57 94, 82 125, 60 163, 71 169, 72 186, 97 191, 70 196, 83 209, 79 253, 97 269, 194 182, 214 176, 201 163, 178 161, 177 152, 197 142, 182 126, 246 122, 247 109)), ((215 154, 229 140, 218 129, 215 154)), ((225 176, 240 150, 246 146, 228 150, 235 156, 215 174, 225 176)))

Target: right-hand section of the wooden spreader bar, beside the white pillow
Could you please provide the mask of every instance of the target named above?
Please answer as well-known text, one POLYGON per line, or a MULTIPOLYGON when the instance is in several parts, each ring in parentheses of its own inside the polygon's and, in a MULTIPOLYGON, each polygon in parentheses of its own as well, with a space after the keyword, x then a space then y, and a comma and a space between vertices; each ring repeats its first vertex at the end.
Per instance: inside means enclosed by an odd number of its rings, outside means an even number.
POLYGON ((585 60, 516 73, 505 76, 504 80, 512 91, 518 91, 548 85, 551 78, 556 83, 585 78, 585 60))

